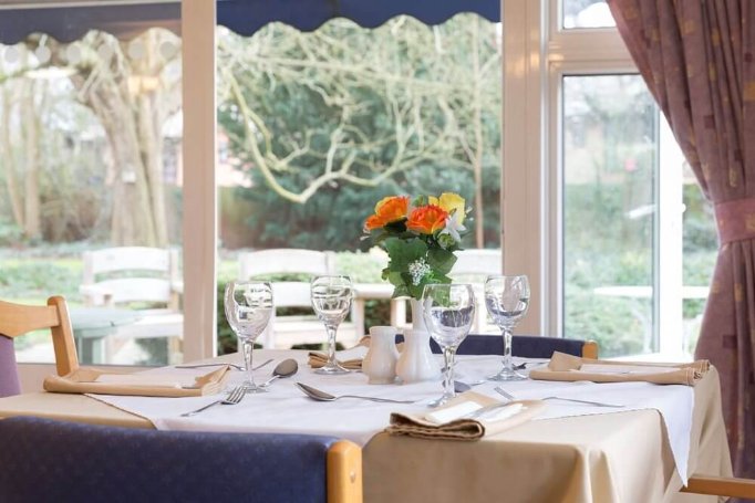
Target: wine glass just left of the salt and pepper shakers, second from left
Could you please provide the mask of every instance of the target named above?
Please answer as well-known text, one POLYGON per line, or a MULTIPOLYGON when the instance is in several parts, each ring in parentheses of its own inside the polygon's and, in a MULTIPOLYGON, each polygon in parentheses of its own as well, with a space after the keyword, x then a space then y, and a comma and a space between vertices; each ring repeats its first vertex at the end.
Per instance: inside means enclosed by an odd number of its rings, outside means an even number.
POLYGON ((317 276, 310 285, 312 308, 328 332, 328 361, 317 374, 348 374, 335 359, 335 332, 351 308, 353 289, 349 276, 317 276))

